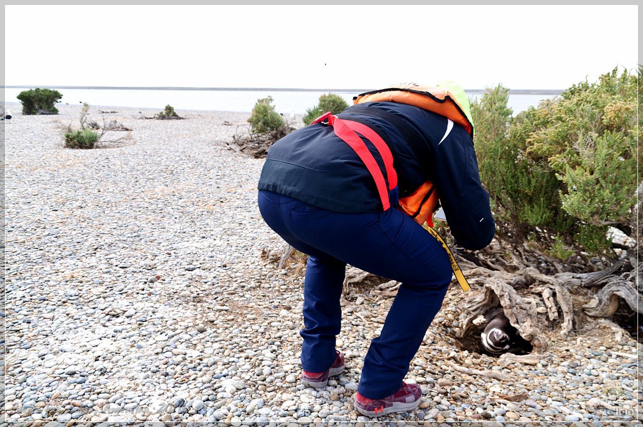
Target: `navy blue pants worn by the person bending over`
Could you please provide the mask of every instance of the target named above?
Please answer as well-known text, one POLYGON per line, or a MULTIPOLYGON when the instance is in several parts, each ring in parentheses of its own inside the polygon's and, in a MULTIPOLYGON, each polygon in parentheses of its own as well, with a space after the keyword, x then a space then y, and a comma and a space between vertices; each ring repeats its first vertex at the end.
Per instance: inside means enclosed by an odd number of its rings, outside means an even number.
POLYGON ((370 343, 358 388, 370 399, 395 393, 451 282, 444 248, 394 208, 331 212, 264 190, 258 204, 268 226, 309 255, 300 331, 303 370, 323 372, 335 360, 346 264, 402 282, 380 336, 370 343))

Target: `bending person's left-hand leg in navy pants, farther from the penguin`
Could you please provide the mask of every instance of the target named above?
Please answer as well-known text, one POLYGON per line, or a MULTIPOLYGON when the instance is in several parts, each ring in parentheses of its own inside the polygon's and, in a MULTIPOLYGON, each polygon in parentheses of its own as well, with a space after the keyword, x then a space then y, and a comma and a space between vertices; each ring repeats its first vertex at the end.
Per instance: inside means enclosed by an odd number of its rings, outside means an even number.
POLYGON ((346 264, 300 241, 285 226, 284 215, 313 219, 321 210, 309 208, 291 197, 264 191, 259 192, 258 204, 266 223, 293 248, 309 255, 303 287, 305 329, 300 331, 302 368, 307 372, 324 372, 337 356, 335 338, 341 327, 340 297, 346 264))

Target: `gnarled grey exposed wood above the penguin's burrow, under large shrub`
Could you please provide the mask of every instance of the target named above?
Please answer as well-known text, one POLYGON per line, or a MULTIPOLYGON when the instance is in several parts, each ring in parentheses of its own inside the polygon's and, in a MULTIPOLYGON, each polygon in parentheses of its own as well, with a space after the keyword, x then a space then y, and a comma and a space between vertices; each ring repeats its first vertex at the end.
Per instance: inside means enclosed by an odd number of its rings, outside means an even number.
MULTIPOLYGON (((623 253, 620 260, 608 264, 603 271, 574 273, 559 271, 556 267, 545 274, 541 268, 547 267, 542 263, 537 264, 538 269, 534 267, 536 263, 529 266, 529 262, 513 266, 505 263, 498 268, 502 264, 498 254, 502 253, 506 261, 511 250, 502 251, 497 245, 490 246, 485 253, 493 262, 482 262, 479 258, 482 251, 460 257, 464 258, 460 266, 473 288, 460 303, 460 311, 467 316, 462 328, 455 333, 460 345, 466 349, 471 348, 469 345, 484 328, 484 322, 479 322, 481 316, 493 307, 502 307, 509 323, 530 341, 536 352, 544 351, 549 340, 567 338, 574 329, 574 316, 581 316, 577 322, 583 329, 588 320, 582 318, 584 314, 610 317, 617 313, 621 316, 624 307, 629 307, 631 313, 642 313, 643 309, 639 307, 643 307, 643 296, 641 289, 635 287, 640 266, 631 253, 623 253), (636 273, 631 271, 634 266, 638 267, 636 273), (600 287, 602 289, 593 294, 600 287), (583 311, 574 313, 575 306, 583 307, 583 311), (474 320, 478 320, 478 324, 474 320)), ((528 259, 525 254, 521 258, 528 259)), ((574 266, 574 269, 581 267, 574 266)))

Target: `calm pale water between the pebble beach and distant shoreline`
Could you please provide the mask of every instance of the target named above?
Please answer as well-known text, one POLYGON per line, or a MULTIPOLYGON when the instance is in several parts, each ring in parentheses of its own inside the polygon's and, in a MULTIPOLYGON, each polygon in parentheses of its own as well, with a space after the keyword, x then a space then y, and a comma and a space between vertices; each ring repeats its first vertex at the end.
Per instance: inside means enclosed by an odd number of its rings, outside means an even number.
MULTIPOLYGON (((6 102, 19 102, 15 96, 26 89, 6 88, 6 102)), ((258 98, 270 95, 275 100, 277 111, 283 114, 305 113, 318 101, 323 92, 302 91, 179 91, 179 90, 133 90, 133 89, 57 89, 62 93, 63 104, 81 104, 104 107, 141 107, 163 109, 166 104, 178 110, 251 111, 258 98)), ((356 92, 338 92, 349 105, 356 92)), ((471 98, 481 93, 469 93, 471 98)), ((510 95, 509 107, 514 114, 530 105, 538 105, 544 98, 555 95, 510 95)))

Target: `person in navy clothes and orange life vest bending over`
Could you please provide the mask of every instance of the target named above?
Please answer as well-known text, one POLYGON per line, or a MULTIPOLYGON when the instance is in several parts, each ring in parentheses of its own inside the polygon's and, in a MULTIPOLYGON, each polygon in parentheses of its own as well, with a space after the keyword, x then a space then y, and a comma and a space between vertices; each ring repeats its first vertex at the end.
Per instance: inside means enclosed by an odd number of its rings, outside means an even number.
POLYGON ((361 94, 276 141, 258 183, 264 221, 309 255, 303 290, 302 383, 327 385, 344 368, 335 349, 350 264, 402 282, 364 358, 356 409, 406 412, 421 399, 404 383, 410 361, 451 282, 447 251, 422 227, 441 204, 458 244, 480 250, 494 236, 480 184, 464 91, 403 84, 361 94))

